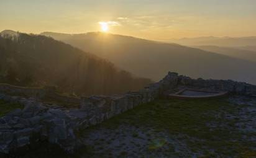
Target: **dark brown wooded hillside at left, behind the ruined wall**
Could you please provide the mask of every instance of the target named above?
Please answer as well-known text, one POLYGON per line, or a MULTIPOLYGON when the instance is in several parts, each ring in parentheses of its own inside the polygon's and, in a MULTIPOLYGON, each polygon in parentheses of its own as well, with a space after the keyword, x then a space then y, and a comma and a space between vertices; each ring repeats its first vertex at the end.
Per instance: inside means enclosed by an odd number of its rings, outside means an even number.
POLYGON ((0 56, 0 82, 19 86, 58 86, 65 92, 92 95, 139 90, 152 82, 42 35, 1 33, 0 56))

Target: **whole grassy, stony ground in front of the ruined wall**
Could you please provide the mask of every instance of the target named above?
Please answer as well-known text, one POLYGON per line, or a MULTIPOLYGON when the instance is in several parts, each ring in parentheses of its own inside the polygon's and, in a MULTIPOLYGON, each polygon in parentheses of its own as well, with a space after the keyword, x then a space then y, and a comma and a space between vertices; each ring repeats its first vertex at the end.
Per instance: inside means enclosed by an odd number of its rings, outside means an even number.
POLYGON ((256 157, 256 98, 155 100, 77 134, 75 155, 40 144, 16 157, 256 157))

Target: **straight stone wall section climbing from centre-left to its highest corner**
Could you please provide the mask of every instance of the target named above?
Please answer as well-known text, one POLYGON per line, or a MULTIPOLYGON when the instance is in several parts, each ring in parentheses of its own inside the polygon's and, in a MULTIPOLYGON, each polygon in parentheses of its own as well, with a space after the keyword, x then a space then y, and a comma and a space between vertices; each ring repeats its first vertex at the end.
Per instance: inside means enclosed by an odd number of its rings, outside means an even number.
POLYGON ((176 87, 177 84, 178 74, 169 72, 161 81, 150 84, 138 92, 127 92, 123 95, 81 97, 80 109, 86 110, 91 117, 84 120, 84 125, 80 128, 96 125, 142 103, 152 102, 162 96, 166 90, 176 87))

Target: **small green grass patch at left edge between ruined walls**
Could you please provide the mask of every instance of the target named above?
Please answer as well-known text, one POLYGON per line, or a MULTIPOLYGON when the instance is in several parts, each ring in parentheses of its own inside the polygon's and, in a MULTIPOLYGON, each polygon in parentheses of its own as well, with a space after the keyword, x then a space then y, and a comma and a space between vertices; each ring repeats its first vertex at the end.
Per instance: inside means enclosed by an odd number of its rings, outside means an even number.
POLYGON ((4 100, 0 100, 0 117, 6 115, 7 113, 11 112, 16 108, 23 108, 24 106, 18 103, 8 103, 4 100))

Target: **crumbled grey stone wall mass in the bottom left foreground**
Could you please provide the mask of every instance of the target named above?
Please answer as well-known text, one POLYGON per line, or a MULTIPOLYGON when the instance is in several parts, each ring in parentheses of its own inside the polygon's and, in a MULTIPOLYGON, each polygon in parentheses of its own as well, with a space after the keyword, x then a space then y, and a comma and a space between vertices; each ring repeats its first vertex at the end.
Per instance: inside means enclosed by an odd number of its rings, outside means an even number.
POLYGON ((16 109, 0 118, 0 157, 16 152, 29 144, 48 141, 72 152, 76 147, 75 120, 69 110, 52 108, 30 98, 0 94, 0 99, 20 103, 16 109))

